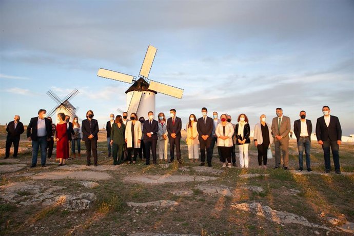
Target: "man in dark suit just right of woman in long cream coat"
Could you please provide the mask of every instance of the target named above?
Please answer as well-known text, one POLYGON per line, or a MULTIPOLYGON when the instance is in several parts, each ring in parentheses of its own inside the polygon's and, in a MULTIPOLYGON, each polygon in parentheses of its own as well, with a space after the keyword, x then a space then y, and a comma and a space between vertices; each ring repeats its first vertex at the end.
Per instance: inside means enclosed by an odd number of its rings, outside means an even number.
POLYGON ((153 119, 153 112, 148 112, 149 120, 144 121, 143 126, 143 139, 145 144, 146 152, 146 163, 145 165, 150 164, 150 149, 152 152, 152 163, 156 163, 156 144, 158 143, 158 132, 159 132, 159 123, 153 119))

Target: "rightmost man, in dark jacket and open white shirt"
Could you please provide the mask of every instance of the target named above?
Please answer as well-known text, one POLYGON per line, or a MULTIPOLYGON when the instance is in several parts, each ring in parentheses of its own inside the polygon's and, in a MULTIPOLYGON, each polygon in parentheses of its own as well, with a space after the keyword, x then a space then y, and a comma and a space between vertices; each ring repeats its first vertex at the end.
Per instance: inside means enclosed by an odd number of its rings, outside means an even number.
POLYGON ((336 174, 340 174, 339 145, 342 144, 341 124, 337 116, 329 114, 330 109, 328 106, 324 106, 322 112, 323 116, 319 117, 316 123, 316 137, 324 152, 325 172, 330 172, 330 149, 332 149, 336 174))

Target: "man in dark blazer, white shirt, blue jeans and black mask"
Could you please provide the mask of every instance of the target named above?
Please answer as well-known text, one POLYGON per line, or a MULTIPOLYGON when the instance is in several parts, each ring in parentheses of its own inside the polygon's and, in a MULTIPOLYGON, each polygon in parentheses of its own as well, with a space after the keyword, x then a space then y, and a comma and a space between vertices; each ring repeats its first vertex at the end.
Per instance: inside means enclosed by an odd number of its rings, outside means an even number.
POLYGON ((312 123, 310 120, 306 120, 305 111, 300 111, 300 118, 300 120, 294 121, 294 134, 296 136, 296 140, 298 141, 299 150, 299 170, 304 170, 303 154, 305 147, 306 168, 307 171, 312 171, 310 160, 312 123))

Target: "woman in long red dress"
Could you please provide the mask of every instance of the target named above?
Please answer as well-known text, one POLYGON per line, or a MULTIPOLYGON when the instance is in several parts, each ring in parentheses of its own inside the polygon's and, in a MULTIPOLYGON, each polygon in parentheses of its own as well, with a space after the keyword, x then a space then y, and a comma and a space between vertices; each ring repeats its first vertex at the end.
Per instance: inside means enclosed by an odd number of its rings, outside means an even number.
POLYGON ((67 123, 65 114, 58 114, 58 123, 56 124, 56 159, 59 159, 59 165, 65 165, 65 160, 69 158, 69 139, 67 133, 67 123))

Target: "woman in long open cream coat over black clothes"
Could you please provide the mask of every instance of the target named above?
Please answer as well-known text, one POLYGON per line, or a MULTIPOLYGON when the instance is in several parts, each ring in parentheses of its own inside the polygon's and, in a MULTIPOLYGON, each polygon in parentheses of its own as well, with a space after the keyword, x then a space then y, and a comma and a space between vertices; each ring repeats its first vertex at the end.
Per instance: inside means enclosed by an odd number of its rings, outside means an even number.
POLYGON ((136 114, 133 112, 130 115, 130 121, 127 122, 125 128, 125 142, 127 144, 128 164, 131 163, 131 152, 134 150, 133 164, 136 163, 137 152, 140 148, 142 139, 142 128, 140 121, 137 120, 136 114))

